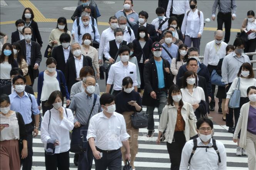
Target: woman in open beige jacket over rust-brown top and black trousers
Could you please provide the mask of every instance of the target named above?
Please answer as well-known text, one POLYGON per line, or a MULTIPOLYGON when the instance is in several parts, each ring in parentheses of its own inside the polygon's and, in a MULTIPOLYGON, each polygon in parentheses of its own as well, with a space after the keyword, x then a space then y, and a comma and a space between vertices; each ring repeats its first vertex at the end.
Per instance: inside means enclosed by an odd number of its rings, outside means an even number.
POLYGON ((182 101, 181 95, 178 86, 170 87, 158 126, 157 144, 164 140, 161 136, 165 133, 171 170, 179 169, 181 151, 189 138, 196 135, 196 116, 191 104, 182 101))

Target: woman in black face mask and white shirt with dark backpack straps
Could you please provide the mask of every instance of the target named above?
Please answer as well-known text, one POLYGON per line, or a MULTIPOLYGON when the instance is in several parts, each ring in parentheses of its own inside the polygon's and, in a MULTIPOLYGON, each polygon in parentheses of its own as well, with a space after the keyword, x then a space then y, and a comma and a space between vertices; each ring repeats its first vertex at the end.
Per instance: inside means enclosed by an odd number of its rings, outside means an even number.
POLYGON ((197 1, 190 0, 189 6, 191 10, 187 11, 182 21, 181 32, 184 38, 184 44, 196 47, 200 51, 200 40, 204 30, 204 15, 197 10, 197 1))

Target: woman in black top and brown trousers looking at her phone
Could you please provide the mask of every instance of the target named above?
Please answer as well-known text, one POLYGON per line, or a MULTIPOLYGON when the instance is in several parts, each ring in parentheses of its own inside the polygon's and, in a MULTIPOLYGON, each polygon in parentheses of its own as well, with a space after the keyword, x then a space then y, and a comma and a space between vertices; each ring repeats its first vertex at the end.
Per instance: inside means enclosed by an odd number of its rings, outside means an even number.
MULTIPOLYGON (((134 110, 136 110, 136 112, 141 112, 142 105, 140 94, 133 89, 133 81, 131 77, 125 77, 122 80, 122 91, 115 96, 115 111, 124 116, 127 133, 131 136, 129 139, 131 153, 130 165, 132 166, 132 169, 135 169, 134 160, 136 158, 136 154, 138 153, 138 138, 136 136, 139 135, 139 129, 134 129, 134 127, 132 127, 131 115, 134 114, 134 110)), ((121 148, 121 152, 123 161, 125 163, 124 147, 121 148)))

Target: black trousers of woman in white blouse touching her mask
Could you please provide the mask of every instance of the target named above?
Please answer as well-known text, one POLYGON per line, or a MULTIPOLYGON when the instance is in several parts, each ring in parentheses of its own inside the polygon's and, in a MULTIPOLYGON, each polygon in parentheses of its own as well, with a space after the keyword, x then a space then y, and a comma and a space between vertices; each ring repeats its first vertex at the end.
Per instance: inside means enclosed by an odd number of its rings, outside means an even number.
POLYGON ((69 151, 55 153, 54 155, 45 155, 46 170, 69 170, 69 151))

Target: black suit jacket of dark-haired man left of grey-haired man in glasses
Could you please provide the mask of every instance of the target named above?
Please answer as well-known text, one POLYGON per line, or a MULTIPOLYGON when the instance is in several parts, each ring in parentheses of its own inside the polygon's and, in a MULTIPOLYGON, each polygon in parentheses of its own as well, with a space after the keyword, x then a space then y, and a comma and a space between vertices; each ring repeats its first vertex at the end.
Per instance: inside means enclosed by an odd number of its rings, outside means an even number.
MULTIPOLYGON (((70 50, 69 58, 72 56, 73 56, 73 54, 71 53, 71 50, 70 50)), ((56 69, 61 70, 62 73, 65 73, 66 62, 65 62, 62 45, 59 45, 59 46, 55 47, 54 50, 52 50, 52 57, 55 58, 57 61, 56 69)))

